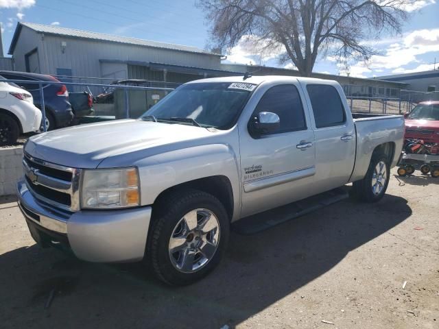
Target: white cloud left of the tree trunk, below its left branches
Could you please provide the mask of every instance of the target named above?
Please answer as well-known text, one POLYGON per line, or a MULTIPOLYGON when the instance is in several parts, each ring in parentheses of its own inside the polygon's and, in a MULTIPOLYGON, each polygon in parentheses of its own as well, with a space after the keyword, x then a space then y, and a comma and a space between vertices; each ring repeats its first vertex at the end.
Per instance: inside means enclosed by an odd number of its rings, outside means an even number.
POLYGON ((252 65, 278 58, 284 52, 282 45, 271 45, 270 40, 258 42, 255 36, 242 36, 235 47, 226 51, 227 62, 252 65))

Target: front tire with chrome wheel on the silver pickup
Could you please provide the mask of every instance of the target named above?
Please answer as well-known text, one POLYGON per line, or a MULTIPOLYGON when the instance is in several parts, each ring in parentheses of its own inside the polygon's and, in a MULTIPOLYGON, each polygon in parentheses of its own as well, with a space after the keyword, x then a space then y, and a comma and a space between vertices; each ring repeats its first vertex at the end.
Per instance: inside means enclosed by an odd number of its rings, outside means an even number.
POLYGON ((229 235, 226 209, 198 190, 176 191, 158 202, 146 248, 147 264, 171 285, 191 284, 221 260, 229 235))

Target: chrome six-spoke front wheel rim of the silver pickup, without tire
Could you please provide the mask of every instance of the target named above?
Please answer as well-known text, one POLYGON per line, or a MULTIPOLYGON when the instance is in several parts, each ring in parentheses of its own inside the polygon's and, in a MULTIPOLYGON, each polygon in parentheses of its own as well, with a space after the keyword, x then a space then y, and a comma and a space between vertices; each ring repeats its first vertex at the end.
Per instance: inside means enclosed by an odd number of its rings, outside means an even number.
POLYGON ((219 221, 209 209, 195 209, 178 221, 169 239, 169 258, 183 273, 209 263, 219 243, 219 221))

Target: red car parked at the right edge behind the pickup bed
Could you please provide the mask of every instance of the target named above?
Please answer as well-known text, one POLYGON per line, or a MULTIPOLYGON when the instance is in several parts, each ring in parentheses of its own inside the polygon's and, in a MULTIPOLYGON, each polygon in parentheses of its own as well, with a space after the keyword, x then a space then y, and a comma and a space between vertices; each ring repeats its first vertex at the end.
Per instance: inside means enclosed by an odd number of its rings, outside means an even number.
POLYGON ((405 117, 405 138, 439 143, 439 101, 423 101, 405 117))

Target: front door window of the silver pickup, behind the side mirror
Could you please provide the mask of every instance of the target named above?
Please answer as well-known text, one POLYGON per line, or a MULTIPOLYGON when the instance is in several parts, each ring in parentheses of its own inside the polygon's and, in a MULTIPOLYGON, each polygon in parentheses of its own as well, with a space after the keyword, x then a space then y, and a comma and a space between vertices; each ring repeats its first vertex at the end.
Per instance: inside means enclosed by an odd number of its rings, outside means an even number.
POLYGON ((281 119, 281 127, 270 134, 307 129, 302 101, 296 86, 292 84, 283 84, 268 89, 254 110, 254 115, 259 112, 273 112, 281 119))

